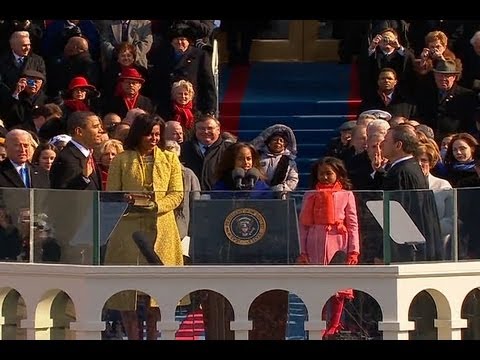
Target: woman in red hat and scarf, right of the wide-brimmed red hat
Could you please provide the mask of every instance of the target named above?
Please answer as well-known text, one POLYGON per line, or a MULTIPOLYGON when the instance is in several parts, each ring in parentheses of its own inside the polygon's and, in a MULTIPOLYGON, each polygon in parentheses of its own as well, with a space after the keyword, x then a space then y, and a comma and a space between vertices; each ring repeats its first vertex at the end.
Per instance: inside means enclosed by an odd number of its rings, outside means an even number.
POLYGON ((124 68, 118 78, 119 89, 112 101, 105 104, 105 113, 113 112, 122 119, 127 115, 128 110, 140 108, 149 114, 153 114, 155 108, 152 101, 140 94, 145 79, 140 72, 131 67, 124 68))

